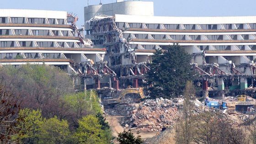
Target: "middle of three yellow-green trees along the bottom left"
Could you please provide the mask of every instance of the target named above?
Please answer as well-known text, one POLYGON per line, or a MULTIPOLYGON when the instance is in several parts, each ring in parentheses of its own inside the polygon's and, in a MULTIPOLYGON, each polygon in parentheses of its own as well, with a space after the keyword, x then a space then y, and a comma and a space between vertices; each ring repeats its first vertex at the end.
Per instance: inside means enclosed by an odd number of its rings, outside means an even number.
POLYGON ((56 116, 40 125, 38 144, 70 144, 69 123, 56 116))

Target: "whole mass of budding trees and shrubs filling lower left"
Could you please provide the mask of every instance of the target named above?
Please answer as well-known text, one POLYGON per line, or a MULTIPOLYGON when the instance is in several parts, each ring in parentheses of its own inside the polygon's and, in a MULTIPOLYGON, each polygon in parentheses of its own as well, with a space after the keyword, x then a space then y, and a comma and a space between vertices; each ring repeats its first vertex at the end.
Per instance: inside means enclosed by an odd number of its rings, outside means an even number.
POLYGON ((76 92, 63 70, 27 64, 0 75, 1 143, 111 143, 96 92, 76 92))

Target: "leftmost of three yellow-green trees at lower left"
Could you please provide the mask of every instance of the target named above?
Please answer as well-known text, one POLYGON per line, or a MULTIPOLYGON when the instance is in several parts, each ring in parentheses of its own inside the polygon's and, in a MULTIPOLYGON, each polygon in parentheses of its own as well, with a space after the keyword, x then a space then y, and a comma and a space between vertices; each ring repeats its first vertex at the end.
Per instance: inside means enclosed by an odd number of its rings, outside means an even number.
POLYGON ((17 128, 19 132, 13 136, 21 144, 35 144, 39 141, 40 126, 45 123, 40 110, 20 110, 17 128))

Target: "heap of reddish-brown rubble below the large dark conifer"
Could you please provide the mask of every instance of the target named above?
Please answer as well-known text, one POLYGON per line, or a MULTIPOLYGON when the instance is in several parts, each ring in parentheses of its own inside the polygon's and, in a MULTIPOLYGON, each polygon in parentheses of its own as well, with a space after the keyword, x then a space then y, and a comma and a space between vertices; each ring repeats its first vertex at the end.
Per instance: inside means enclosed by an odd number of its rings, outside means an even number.
POLYGON ((161 131, 162 128, 172 126, 179 116, 179 105, 168 99, 146 100, 133 106, 129 119, 124 123, 129 127, 136 127, 147 131, 161 131))

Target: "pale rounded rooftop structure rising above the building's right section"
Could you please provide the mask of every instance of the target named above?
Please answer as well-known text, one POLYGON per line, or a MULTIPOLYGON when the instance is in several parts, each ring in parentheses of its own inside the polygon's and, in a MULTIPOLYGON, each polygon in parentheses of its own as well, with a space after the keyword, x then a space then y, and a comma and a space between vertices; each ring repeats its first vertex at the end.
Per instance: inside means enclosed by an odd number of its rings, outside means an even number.
POLYGON ((123 1, 106 5, 85 6, 85 21, 90 20, 96 15, 114 16, 121 15, 139 15, 154 16, 154 5, 150 1, 123 1))

